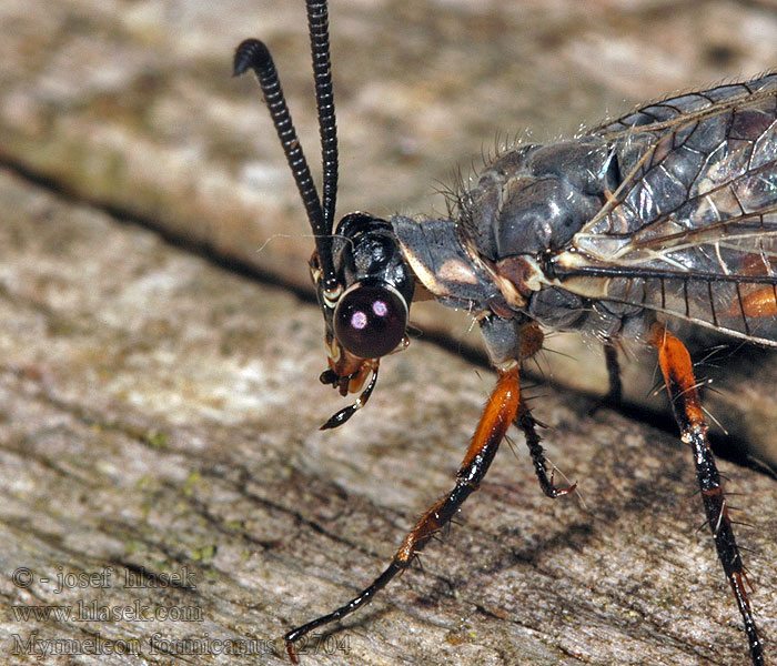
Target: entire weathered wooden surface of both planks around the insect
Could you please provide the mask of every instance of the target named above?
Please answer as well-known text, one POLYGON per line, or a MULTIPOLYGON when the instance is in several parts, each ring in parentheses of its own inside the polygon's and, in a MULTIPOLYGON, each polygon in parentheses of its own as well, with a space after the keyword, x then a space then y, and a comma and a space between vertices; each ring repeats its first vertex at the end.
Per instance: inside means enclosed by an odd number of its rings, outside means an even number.
MULTIPOLYGON (((367 410, 316 432, 343 403, 316 381, 320 314, 299 297, 311 242, 254 85, 229 78, 234 44, 266 39, 314 155, 303 12, 212 4, 0 10, 4 663, 32 663, 12 650, 37 633, 41 648, 100 636, 137 639, 142 655, 36 663, 281 664, 271 642, 369 583, 448 490, 491 389, 491 371, 422 339, 384 364, 367 410), (57 592, 58 574, 109 571, 107 588, 57 592), (141 587, 122 587, 141 571, 141 587), (181 571, 184 587, 154 578, 181 571), (10 607, 79 603, 152 617, 34 620, 10 607), (176 613, 194 622, 164 619, 176 613), (211 643, 199 655, 164 643, 184 638, 211 643), (219 639, 254 643, 224 656, 219 639)), ((435 181, 450 184, 456 164, 468 173, 497 129, 552 140, 777 64, 768 2, 335 0, 332 14, 341 211, 444 212, 435 181)), ((450 349, 476 343, 466 317, 434 316, 450 349)), ((423 571, 304 663, 747 664, 697 529, 688 451, 644 412, 588 416, 601 355, 575 344, 552 339, 574 361, 547 353, 553 383, 526 391, 581 497, 546 500, 516 435, 423 571)), ((734 440, 768 445, 776 360, 738 354, 720 361, 707 404, 734 440)), ((644 395, 654 362, 634 367, 644 395)), ((722 468, 740 493, 774 655, 775 482, 722 468)))

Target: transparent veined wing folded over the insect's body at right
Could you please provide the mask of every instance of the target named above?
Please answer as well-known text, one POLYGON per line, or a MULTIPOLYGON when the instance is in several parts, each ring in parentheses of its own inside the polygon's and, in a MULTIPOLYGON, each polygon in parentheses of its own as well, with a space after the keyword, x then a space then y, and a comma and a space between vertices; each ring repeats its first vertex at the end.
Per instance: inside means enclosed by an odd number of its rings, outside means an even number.
POLYGON ((553 258, 559 285, 777 345, 777 73, 594 134, 624 178, 553 258))

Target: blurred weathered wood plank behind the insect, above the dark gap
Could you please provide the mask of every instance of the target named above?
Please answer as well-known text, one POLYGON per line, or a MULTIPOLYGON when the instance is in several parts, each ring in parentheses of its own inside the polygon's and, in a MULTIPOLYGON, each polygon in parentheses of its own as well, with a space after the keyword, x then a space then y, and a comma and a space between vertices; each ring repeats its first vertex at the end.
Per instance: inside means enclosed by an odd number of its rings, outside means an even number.
MULTIPOLYGON (((0 159, 310 290, 296 193, 255 84, 231 80, 229 62, 246 36, 272 46, 314 155, 301 2, 8 0, 0 21, 0 159)), ((476 171, 497 141, 571 135, 634 103, 773 68, 775 30, 775 8, 754 2, 335 1, 340 210, 444 212, 438 183, 476 171)), ((423 305, 413 316, 480 345, 466 319, 423 305)), ((575 336, 549 345, 562 352, 547 357, 554 381, 603 391, 601 355, 575 336)), ((770 385, 773 365, 755 364, 748 384, 770 385)), ((629 402, 665 412, 644 379, 652 362, 626 372, 629 402)), ((771 392, 743 401, 725 373, 716 387, 709 405, 731 441, 777 465, 771 392)))

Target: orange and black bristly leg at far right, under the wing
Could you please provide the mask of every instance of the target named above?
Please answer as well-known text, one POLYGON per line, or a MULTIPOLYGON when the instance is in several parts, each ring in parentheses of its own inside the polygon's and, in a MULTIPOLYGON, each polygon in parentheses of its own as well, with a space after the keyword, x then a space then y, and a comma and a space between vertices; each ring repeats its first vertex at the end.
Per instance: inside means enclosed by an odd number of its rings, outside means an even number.
POLYGON ((702 491, 707 523, 745 623, 750 657, 756 666, 763 666, 764 648, 747 598, 747 577, 728 517, 720 476, 707 442, 707 424, 702 412, 690 355, 685 345, 660 325, 653 329, 649 343, 658 350, 658 363, 669 392, 675 420, 680 428, 680 438, 690 444, 694 452, 696 480, 702 491))

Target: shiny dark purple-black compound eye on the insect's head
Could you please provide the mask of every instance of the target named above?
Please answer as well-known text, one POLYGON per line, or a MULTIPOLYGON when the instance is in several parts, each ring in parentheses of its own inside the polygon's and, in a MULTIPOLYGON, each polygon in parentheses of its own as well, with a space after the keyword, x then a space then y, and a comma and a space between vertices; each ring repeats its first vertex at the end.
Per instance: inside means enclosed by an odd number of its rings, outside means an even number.
POLYGON ((389 286, 357 285, 342 295, 334 311, 337 341, 361 359, 394 351, 406 327, 405 300, 389 286))

